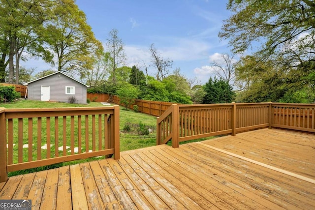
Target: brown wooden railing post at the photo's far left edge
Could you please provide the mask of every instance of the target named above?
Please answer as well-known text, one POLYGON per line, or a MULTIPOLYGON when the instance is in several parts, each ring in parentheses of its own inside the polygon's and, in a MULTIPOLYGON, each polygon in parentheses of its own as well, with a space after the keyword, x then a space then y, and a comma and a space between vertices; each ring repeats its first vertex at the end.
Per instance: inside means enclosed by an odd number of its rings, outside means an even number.
POLYGON ((0 108, 0 182, 7 181, 6 120, 4 108, 0 108))

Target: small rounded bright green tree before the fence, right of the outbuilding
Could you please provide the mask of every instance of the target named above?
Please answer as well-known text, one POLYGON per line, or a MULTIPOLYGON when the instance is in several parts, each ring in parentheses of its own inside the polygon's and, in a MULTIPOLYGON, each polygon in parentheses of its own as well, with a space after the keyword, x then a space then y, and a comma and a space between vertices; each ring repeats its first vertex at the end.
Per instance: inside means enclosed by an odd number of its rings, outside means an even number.
POLYGON ((118 91, 117 94, 122 104, 126 108, 130 108, 130 105, 134 103, 138 97, 139 89, 129 83, 125 83, 118 91))

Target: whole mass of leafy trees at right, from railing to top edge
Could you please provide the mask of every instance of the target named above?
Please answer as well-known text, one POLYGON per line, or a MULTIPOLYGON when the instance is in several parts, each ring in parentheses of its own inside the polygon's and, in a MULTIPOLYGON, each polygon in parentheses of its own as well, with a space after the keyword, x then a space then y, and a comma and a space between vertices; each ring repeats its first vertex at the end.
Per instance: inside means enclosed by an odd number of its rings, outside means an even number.
POLYGON ((254 52, 236 74, 245 102, 304 101, 314 90, 315 1, 229 0, 227 9, 219 36, 234 53, 254 52))

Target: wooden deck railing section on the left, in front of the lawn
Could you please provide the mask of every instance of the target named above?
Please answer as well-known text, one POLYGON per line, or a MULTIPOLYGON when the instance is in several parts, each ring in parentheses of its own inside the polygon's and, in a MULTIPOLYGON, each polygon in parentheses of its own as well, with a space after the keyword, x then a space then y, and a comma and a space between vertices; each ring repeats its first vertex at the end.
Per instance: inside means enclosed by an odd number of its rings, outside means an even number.
POLYGON ((0 182, 7 172, 109 155, 120 158, 118 105, 0 108, 0 182))

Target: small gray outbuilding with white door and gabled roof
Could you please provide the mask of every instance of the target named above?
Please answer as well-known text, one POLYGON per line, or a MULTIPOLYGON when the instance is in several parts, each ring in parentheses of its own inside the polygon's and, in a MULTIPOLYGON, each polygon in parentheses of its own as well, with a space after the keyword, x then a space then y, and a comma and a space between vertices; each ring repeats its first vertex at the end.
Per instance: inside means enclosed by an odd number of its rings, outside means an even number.
POLYGON ((30 100, 87 103, 89 86, 60 71, 23 85, 28 86, 27 97, 30 100))

